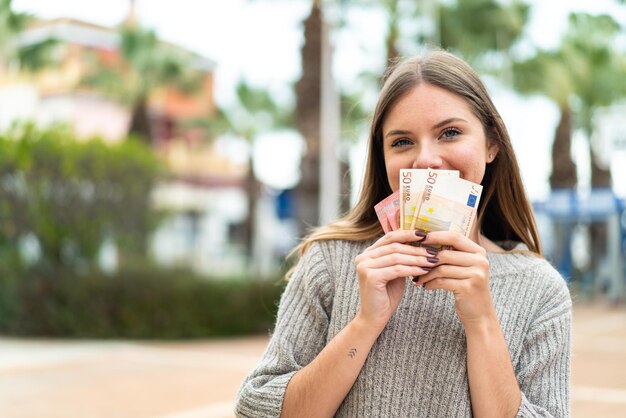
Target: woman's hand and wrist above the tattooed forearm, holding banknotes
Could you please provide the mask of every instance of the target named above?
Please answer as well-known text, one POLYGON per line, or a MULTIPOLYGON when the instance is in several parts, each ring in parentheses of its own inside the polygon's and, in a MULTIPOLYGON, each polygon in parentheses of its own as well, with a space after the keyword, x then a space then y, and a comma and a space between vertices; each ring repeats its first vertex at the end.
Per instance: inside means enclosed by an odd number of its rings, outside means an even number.
POLYGON ((369 327, 383 330, 404 294, 407 276, 420 276, 437 262, 432 250, 410 243, 423 241, 419 231, 391 231, 355 259, 361 307, 359 317, 369 327))

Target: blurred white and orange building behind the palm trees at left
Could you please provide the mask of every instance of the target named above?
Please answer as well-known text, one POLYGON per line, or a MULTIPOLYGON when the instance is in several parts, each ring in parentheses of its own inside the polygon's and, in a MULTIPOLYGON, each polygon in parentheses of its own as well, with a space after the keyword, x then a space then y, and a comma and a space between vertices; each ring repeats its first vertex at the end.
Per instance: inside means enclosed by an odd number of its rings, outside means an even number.
MULTIPOLYGON (((127 19, 133 19, 131 15, 127 19)), ((16 120, 40 125, 62 122, 79 138, 99 136, 106 141, 126 137, 131 112, 128 106, 82 80, 97 65, 123 68, 118 28, 76 19, 36 22, 20 44, 56 40, 54 65, 35 74, 0 74, 0 129, 16 120)), ((157 231, 155 258, 166 264, 191 265, 200 271, 229 272, 241 265, 233 242, 237 225, 245 218, 243 178, 247 167, 215 151, 201 124, 215 113, 213 71, 216 63, 176 48, 191 57, 201 77, 193 94, 164 88, 149 97, 151 143, 173 172, 155 191, 155 204, 171 216, 157 231)))

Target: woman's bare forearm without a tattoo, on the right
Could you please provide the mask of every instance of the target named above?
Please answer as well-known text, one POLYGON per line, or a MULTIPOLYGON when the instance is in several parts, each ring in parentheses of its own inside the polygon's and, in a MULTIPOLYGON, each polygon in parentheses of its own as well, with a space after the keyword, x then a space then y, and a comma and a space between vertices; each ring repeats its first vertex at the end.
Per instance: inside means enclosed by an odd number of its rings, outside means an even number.
POLYGON ((514 417, 521 393, 497 317, 465 324, 465 334, 473 415, 514 417))

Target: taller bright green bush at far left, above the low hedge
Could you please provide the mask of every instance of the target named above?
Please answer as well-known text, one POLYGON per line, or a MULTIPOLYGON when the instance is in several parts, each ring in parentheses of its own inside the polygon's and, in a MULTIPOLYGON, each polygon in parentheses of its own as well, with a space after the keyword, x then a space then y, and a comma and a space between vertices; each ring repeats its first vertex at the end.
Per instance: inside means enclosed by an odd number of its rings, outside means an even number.
POLYGON ((14 125, 0 132, 0 259, 28 236, 35 262, 51 269, 97 266, 106 239, 145 257, 162 215, 151 191, 166 178, 155 153, 130 138, 81 141, 68 126, 14 125))

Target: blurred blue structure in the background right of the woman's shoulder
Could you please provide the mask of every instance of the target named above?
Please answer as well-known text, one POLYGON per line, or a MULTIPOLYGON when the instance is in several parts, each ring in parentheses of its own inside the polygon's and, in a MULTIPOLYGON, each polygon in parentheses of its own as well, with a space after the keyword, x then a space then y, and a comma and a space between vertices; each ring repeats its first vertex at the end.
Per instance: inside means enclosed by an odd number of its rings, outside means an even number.
MULTIPOLYGON (((551 220, 556 236, 552 254, 547 254, 555 267, 567 279, 573 276, 573 259, 570 249, 572 231, 576 225, 603 223, 607 226, 608 296, 615 300, 626 299, 624 283, 624 255, 626 254, 626 201, 618 198, 611 189, 593 189, 589 196, 581 197, 573 189, 553 190, 548 200, 535 202, 537 215, 551 220)), ((544 231, 545 233, 546 231, 544 231)), ((594 277, 594 281, 599 278, 594 277)))

